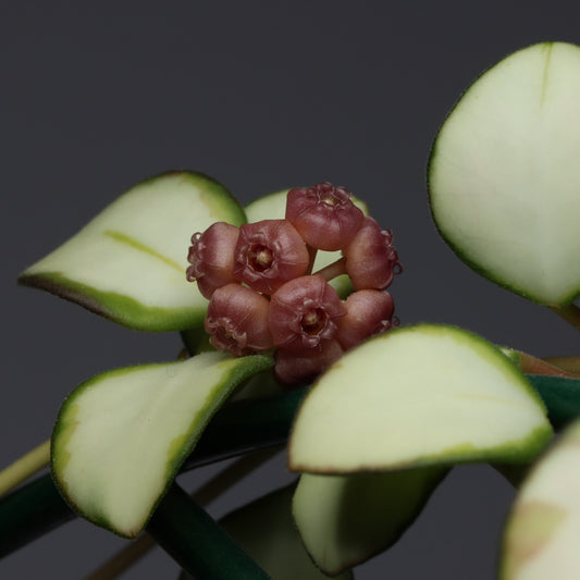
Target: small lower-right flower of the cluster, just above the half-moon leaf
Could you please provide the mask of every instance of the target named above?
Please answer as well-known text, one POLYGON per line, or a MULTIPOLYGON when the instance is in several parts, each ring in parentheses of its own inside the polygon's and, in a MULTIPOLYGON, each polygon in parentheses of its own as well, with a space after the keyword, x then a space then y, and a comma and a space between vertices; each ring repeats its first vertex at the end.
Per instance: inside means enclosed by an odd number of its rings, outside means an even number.
POLYGON ((395 304, 386 291, 362 289, 348 296, 347 313, 338 321, 336 340, 348 350, 393 325, 395 304))

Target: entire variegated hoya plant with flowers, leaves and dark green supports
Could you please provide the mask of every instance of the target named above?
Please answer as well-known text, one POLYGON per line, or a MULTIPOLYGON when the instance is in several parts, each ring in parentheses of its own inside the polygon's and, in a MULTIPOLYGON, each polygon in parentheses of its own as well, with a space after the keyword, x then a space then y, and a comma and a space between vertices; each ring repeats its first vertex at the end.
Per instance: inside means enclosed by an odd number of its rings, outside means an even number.
MULTIPOLYGON (((502 60, 442 124, 428 185, 460 259, 580 330, 578 95, 579 47, 502 60)), ((490 462, 521 485, 498 578, 578 578, 579 359, 406 325, 404 248, 365 193, 296 185, 242 207, 207 175, 158 175, 24 270, 21 284, 178 332, 183 349, 71 392, 50 441, 0 473, 1 554, 81 516, 135 539, 94 578, 157 542, 183 580, 349 579, 454 466, 490 462), (294 483, 215 522, 203 505, 281 449, 294 483), (175 481, 224 459, 193 496, 175 481)))

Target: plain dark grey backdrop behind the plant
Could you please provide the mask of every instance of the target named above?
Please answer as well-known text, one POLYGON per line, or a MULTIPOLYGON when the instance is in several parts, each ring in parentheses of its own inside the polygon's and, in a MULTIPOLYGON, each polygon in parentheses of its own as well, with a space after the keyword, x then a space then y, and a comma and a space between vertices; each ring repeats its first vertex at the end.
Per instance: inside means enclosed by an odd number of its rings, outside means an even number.
MULTIPOLYGON (((3 2, 0 8, 2 398, 0 464, 47 439, 84 379, 171 360, 141 334, 15 277, 135 182, 193 169, 243 202, 330 180, 395 232, 404 324, 458 324, 540 356, 578 353, 553 313, 468 270, 439 238, 429 148, 482 70, 543 40, 579 44, 578 2, 3 2)), ((283 459, 212 506, 283 481, 283 459)), ((194 488, 207 473, 188 476, 194 488)), ((513 491, 456 470, 417 526, 358 579, 491 580, 513 491)), ((0 563, 0 577, 78 579, 124 541, 75 521, 0 563)), ((158 550, 126 575, 176 578, 158 550)))

